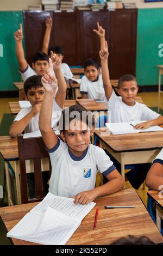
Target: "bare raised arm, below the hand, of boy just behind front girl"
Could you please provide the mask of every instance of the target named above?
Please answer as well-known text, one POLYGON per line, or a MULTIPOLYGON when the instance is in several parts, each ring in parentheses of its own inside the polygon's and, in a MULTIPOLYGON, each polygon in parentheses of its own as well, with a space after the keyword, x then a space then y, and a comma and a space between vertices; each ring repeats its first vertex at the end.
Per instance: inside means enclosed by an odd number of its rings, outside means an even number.
POLYGON ((66 99, 67 84, 64 76, 62 75, 61 69, 55 70, 55 75, 58 80, 58 92, 55 96, 55 101, 60 108, 63 108, 66 99))

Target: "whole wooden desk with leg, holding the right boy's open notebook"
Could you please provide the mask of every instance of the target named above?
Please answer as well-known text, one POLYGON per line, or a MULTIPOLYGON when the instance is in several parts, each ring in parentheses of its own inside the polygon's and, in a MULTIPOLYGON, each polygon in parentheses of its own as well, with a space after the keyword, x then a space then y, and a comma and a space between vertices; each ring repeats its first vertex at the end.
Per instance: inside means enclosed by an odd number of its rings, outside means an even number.
POLYGON ((152 160, 163 148, 163 132, 140 132, 123 135, 101 136, 101 131, 95 130, 102 148, 105 148, 121 163, 121 175, 124 180, 125 164, 152 163, 152 160))

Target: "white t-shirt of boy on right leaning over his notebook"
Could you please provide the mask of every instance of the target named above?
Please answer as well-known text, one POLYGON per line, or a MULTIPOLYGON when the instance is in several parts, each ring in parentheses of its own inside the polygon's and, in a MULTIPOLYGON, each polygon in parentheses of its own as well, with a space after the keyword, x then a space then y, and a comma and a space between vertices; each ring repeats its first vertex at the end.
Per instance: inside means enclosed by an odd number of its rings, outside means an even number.
POLYGON ((130 122, 135 120, 152 120, 160 114, 148 108, 145 104, 135 101, 134 106, 126 105, 114 90, 108 101, 108 111, 111 112, 111 123, 130 122))

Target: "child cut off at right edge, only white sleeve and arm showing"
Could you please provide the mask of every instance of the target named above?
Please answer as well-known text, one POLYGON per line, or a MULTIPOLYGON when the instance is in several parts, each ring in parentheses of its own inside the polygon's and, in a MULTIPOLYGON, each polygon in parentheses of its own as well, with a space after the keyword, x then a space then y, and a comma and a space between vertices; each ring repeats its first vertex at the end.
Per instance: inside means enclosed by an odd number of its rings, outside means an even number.
POLYGON ((146 177, 146 186, 157 191, 163 188, 163 149, 152 162, 146 177))

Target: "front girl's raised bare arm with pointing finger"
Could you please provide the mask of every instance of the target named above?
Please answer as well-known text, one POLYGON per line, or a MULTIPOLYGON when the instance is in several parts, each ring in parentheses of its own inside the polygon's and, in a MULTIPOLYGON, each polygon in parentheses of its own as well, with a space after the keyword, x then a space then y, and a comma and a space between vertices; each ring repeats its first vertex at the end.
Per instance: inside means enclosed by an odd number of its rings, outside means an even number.
POLYGON ((41 82, 46 92, 41 105, 39 128, 46 147, 52 149, 57 144, 57 136, 51 128, 53 98, 57 89, 57 78, 54 74, 52 59, 49 59, 49 73, 41 78, 41 82))

